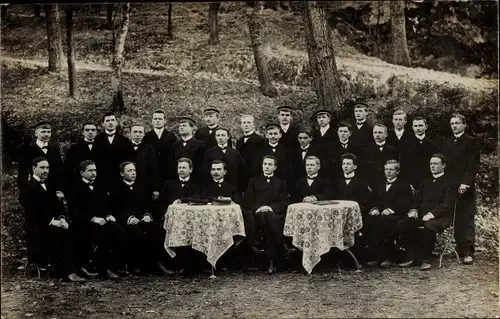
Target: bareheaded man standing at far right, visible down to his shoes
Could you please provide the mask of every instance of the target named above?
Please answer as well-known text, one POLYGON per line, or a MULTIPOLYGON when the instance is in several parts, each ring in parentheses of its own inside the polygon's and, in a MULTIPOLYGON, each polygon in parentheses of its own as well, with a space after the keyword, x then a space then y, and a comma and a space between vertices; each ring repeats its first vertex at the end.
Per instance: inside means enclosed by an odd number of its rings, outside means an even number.
POLYGON ((474 261, 474 239, 476 214, 476 174, 480 163, 480 145, 467 133, 465 117, 455 113, 450 119, 453 136, 447 138, 441 152, 447 159, 447 174, 458 187, 455 216, 455 242, 457 252, 464 264, 474 261))

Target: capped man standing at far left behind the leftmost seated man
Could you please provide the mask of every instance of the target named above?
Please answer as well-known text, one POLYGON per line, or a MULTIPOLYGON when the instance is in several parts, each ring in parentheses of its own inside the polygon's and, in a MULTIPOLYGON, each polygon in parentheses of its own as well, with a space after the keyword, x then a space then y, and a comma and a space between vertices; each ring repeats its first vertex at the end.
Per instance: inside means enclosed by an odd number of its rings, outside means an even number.
POLYGON ((33 160, 37 157, 43 157, 47 159, 50 165, 50 175, 47 182, 56 188, 57 197, 64 198, 65 185, 62 180, 64 164, 59 150, 54 146, 49 146, 51 136, 52 125, 49 122, 42 121, 35 125, 35 142, 25 146, 21 150, 17 186, 19 190, 22 190, 28 185, 28 182, 33 177, 33 160))

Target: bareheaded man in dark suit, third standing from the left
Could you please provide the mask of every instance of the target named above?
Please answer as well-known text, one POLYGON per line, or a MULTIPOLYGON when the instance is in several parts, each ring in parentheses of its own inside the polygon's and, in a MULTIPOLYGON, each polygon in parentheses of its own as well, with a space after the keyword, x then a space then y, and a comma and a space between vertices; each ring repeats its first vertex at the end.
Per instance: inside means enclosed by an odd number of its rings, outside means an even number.
POLYGON ((96 151, 96 166, 99 168, 99 179, 111 189, 120 181, 120 164, 126 160, 130 141, 118 132, 118 121, 113 112, 102 117, 104 132, 97 134, 93 148, 96 151))

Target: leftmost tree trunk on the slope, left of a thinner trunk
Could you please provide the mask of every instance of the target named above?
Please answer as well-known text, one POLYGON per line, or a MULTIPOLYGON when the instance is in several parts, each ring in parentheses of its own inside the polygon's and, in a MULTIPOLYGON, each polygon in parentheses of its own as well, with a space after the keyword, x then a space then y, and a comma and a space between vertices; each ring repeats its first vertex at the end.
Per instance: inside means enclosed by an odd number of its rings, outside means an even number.
POLYGON ((49 71, 61 72, 63 49, 59 5, 46 4, 45 17, 47 20, 47 41, 49 46, 49 71))

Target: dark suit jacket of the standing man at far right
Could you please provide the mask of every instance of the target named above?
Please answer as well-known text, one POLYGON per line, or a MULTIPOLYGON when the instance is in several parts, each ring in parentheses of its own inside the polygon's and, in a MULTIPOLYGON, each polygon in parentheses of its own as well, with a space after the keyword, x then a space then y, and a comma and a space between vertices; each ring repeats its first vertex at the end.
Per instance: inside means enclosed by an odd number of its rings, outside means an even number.
POLYGON ((452 136, 444 141, 441 152, 446 156, 448 177, 457 184, 465 184, 474 188, 480 164, 480 146, 477 140, 466 133, 456 141, 452 136))

